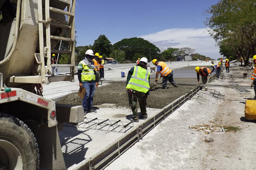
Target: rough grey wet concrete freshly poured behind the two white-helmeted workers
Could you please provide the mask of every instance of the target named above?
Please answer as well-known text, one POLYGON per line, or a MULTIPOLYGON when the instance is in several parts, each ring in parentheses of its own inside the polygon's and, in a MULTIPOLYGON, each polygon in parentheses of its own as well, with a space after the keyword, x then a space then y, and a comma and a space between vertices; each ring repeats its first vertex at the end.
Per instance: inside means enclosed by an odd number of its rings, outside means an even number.
MULTIPOLYGON (((150 80, 154 82, 153 79, 150 80)), ((161 80, 160 80, 161 81, 161 80)), ((154 86, 154 83, 150 83, 154 86)), ((126 93, 126 81, 113 82, 106 86, 97 87, 95 90, 93 105, 100 105, 103 103, 116 104, 116 107, 130 108, 128 96, 126 93)), ((162 85, 157 83, 149 93, 147 99, 147 106, 149 108, 163 108, 171 103, 176 98, 185 95, 193 89, 191 86, 174 87, 172 84, 167 84, 168 89, 162 89, 162 85)), ((60 104, 81 105, 82 99, 77 96, 77 93, 70 93, 62 98, 56 100, 60 104)))

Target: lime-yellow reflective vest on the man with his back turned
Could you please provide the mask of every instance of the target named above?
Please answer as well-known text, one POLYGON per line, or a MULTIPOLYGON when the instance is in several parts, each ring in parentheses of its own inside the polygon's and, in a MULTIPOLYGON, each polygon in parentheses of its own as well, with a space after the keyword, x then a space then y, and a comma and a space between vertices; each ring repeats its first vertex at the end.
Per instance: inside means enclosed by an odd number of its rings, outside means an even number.
POLYGON ((129 80, 129 83, 127 83, 126 89, 147 93, 150 89, 149 74, 150 71, 147 69, 140 66, 135 66, 131 79, 129 80))

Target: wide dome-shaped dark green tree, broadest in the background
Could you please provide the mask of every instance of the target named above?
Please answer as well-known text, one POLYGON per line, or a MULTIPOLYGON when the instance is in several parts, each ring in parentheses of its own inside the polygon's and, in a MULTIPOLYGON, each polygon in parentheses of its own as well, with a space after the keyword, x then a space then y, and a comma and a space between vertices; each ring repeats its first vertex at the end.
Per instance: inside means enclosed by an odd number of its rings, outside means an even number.
MULTIPOLYGON (((125 52, 125 59, 136 61, 135 53, 150 58, 157 58, 160 53, 160 49, 157 48, 153 43, 142 38, 133 37, 130 39, 123 39, 113 45, 113 49, 119 49, 125 52)), ((136 54, 136 55, 138 55, 136 54)))

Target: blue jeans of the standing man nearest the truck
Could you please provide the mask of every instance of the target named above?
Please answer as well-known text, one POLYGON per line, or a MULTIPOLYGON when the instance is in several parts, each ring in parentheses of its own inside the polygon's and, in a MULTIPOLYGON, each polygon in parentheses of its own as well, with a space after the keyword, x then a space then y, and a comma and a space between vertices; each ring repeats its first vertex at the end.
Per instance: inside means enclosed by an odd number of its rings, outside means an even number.
POLYGON ((86 93, 83 98, 83 110, 89 111, 93 108, 93 96, 95 94, 95 81, 83 82, 83 87, 86 89, 86 93))

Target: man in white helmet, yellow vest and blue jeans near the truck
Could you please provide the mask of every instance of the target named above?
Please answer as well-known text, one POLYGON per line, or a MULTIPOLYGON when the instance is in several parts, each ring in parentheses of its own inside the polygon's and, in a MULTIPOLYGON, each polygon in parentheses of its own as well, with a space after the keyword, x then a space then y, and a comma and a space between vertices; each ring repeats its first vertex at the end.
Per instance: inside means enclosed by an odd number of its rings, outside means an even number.
POLYGON ((93 109, 93 97, 96 86, 95 82, 99 82, 99 76, 95 71, 95 65, 93 62, 94 53, 92 49, 88 49, 85 54, 86 56, 77 66, 77 76, 79 86, 86 89, 82 105, 84 114, 87 114, 88 112, 95 112, 95 109, 93 109))

